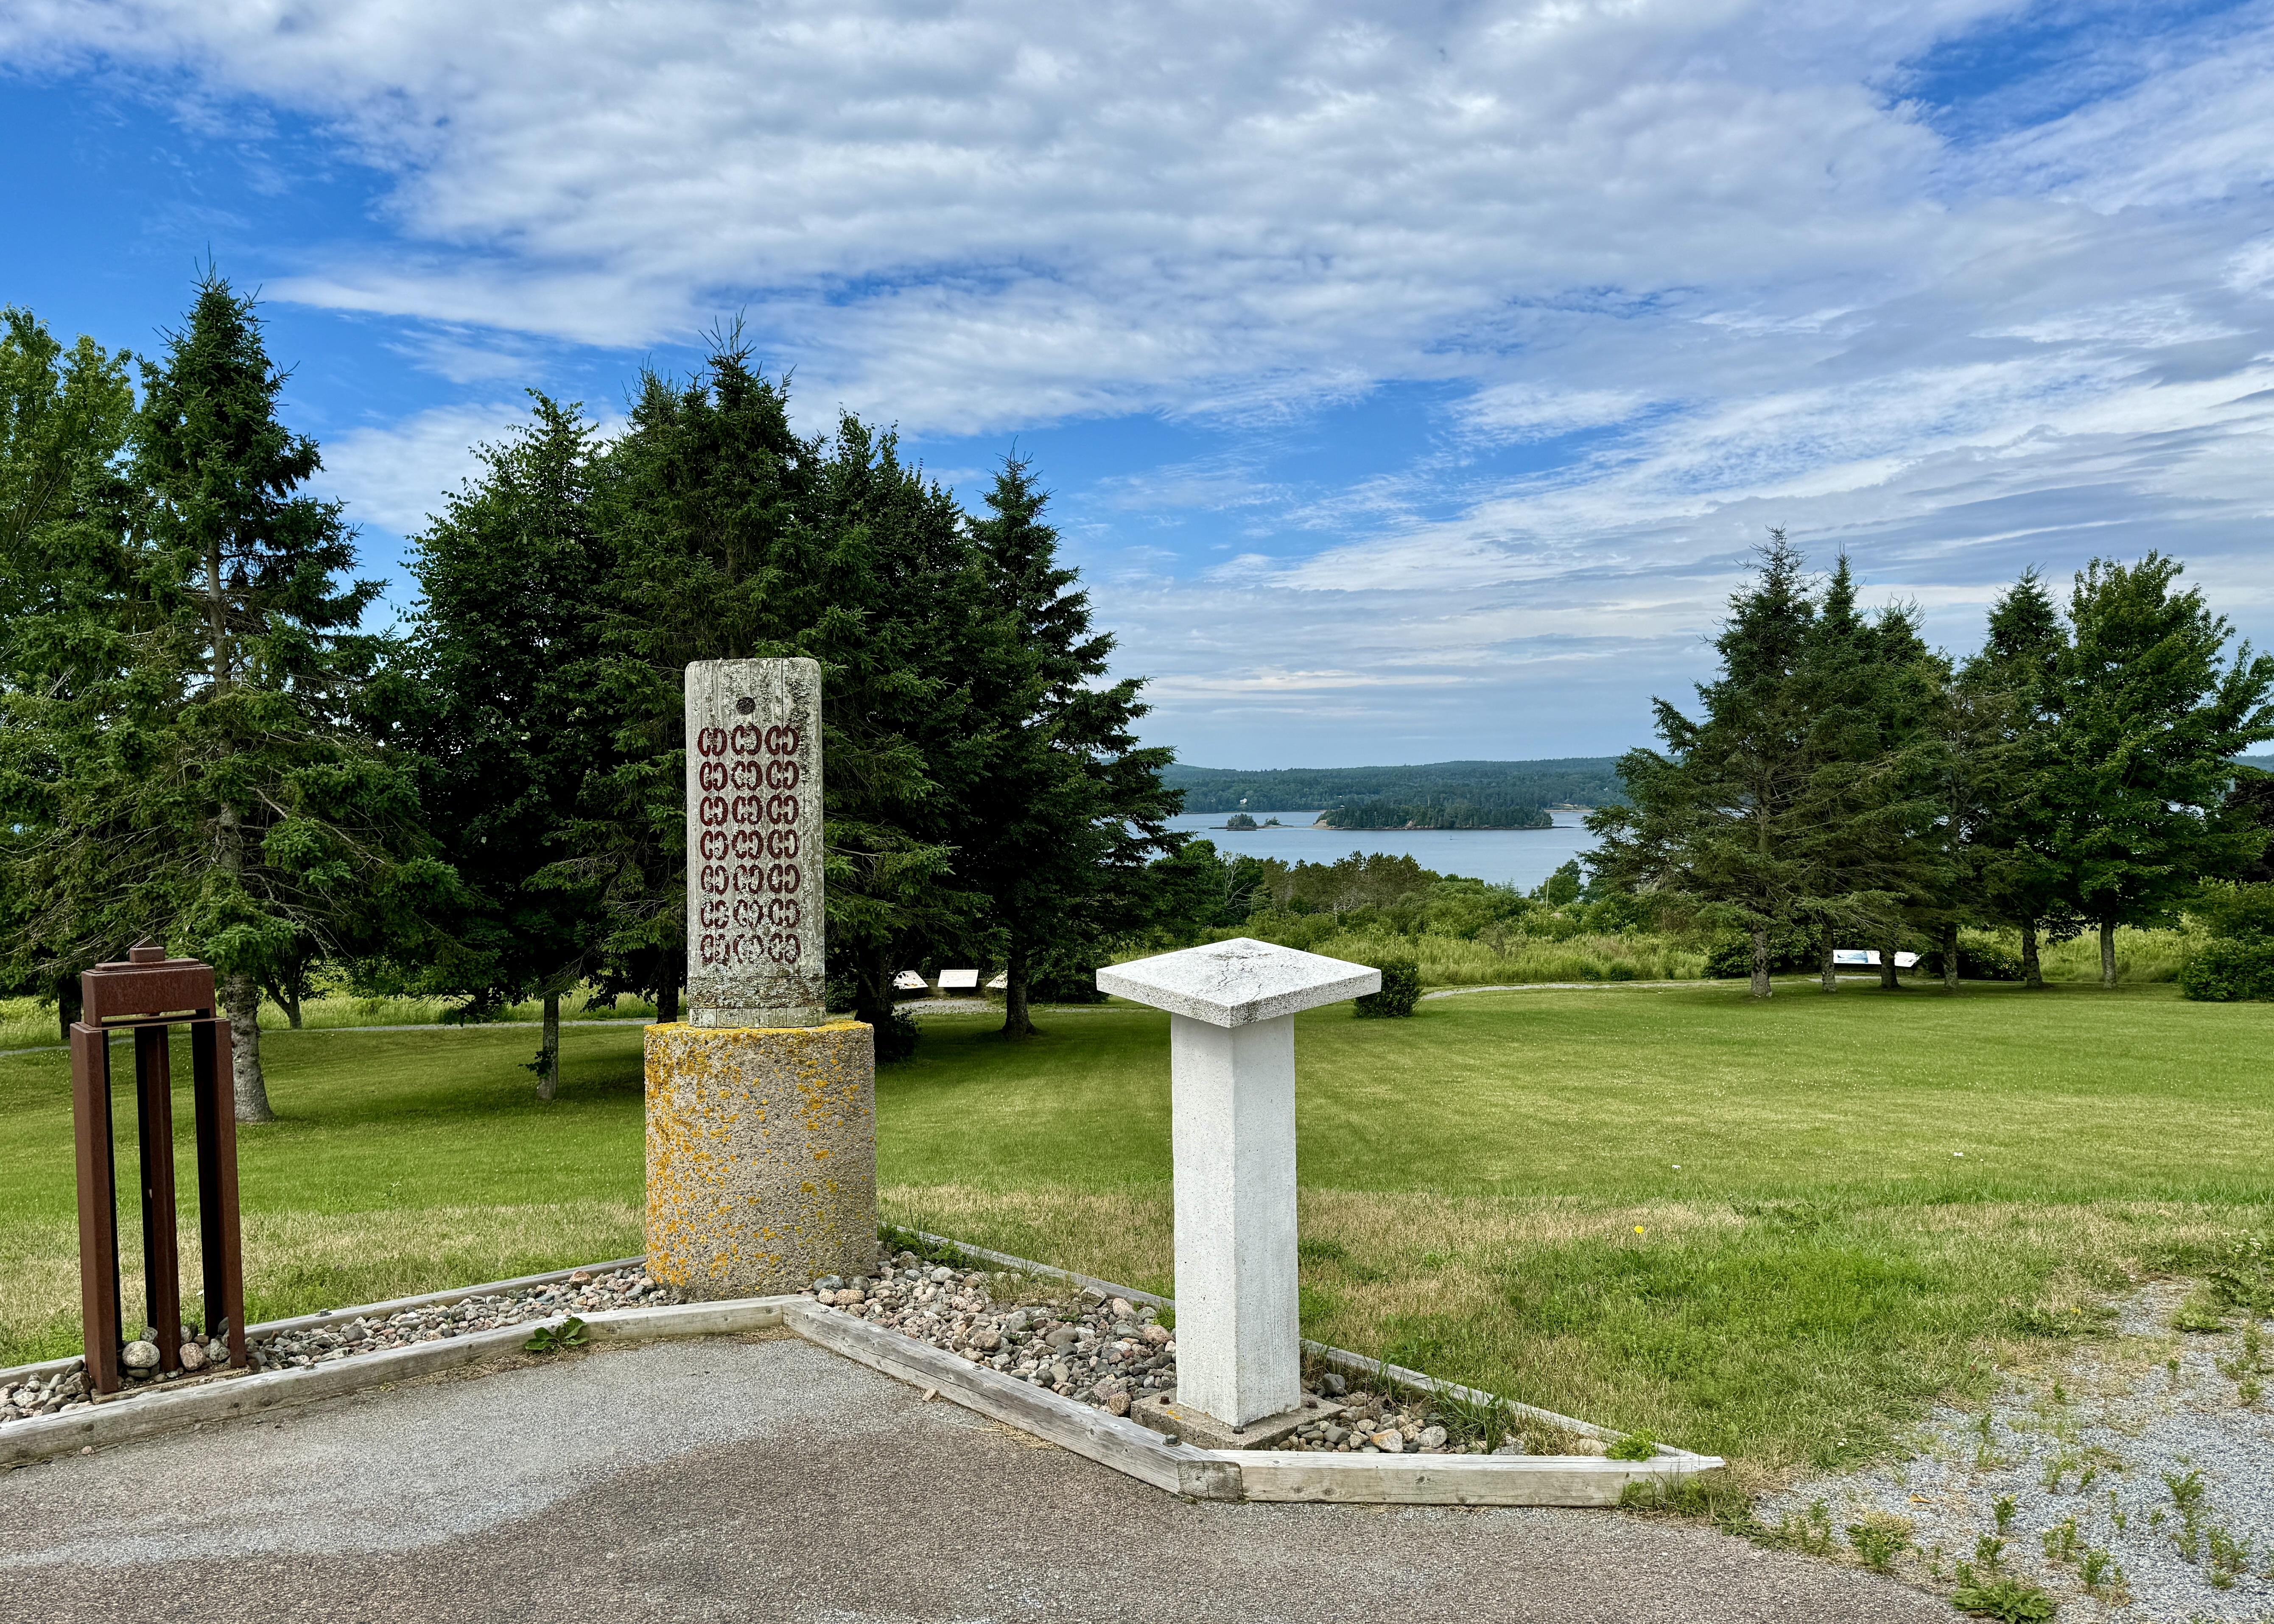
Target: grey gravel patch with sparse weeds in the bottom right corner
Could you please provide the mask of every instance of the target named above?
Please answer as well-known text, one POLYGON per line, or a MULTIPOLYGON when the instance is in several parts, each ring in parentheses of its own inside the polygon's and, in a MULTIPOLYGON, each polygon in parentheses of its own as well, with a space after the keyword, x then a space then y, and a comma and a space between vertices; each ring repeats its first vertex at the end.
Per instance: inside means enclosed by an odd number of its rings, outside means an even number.
POLYGON ((2126 1296, 2113 1337, 2010 1378, 1985 1410, 1937 1410, 1910 1458, 1801 1483, 1762 1519, 1812 1522, 1831 1549, 1876 1526, 1908 1540, 1906 1579, 2012 1576, 2063 1619, 2274 1617, 2274 1337, 2260 1326, 2256 1353, 2240 1312, 2219 1333, 2174 1331, 2188 1292, 2126 1296))

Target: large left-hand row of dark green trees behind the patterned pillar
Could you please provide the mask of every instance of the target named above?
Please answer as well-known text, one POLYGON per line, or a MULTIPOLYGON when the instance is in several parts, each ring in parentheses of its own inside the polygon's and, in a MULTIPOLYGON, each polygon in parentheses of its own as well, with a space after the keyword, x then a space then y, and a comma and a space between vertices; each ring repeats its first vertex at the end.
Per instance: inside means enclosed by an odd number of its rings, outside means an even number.
POLYGON ((248 296, 207 273, 155 357, 0 318, 0 976, 68 1024, 143 937, 209 960, 239 1117, 262 996, 296 1019, 318 976, 541 999, 543 1096, 578 987, 675 1017, 694 660, 821 662, 832 1008, 882 1058, 901 964, 985 951, 1023 1035, 1030 987, 1146 923, 1169 751, 1028 462, 964 512, 889 430, 796 432, 725 332, 614 437, 532 391, 373 632, 248 296))

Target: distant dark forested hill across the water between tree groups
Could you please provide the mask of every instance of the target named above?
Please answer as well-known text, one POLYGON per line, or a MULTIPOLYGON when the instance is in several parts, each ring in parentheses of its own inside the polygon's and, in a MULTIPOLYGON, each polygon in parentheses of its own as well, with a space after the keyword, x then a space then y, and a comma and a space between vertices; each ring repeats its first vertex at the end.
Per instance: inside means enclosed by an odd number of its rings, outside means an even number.
POLYGON ((1385 801, 1396 805, 1605 805, 1624 801, 1617 755, 1562 755, 1546 762, 1430 762, 1426 767, 1283 767, 1244 773, 1228 767, 1171 767, 1162 778, 1185 792, 1187 812, 1317 812, 1385 801))

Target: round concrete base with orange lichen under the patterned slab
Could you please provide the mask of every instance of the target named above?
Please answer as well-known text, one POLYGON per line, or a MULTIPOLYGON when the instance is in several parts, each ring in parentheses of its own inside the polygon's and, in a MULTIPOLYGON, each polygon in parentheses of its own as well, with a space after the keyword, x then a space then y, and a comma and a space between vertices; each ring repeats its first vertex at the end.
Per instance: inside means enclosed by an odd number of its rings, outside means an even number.
POLYGON ((648 1274, 689 1296, 875 1267, 875 1033, 648 1028, 648 1274))

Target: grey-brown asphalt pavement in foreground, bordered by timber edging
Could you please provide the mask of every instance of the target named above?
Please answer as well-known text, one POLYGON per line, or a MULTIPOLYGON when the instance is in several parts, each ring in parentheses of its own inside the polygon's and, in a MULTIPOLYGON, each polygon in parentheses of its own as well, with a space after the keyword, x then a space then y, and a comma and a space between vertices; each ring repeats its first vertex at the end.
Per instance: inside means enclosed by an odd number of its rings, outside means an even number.
POLYGON ((791 1337, 453 1374, 0 1474, 0 1619, 1885 1619, 1617 1513, 1182 1503, 791 1337))

